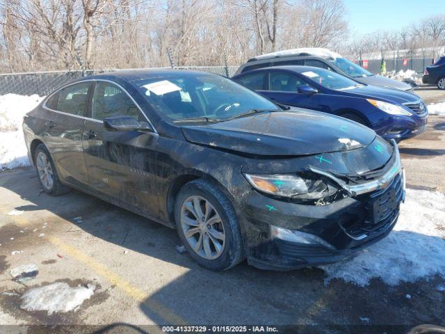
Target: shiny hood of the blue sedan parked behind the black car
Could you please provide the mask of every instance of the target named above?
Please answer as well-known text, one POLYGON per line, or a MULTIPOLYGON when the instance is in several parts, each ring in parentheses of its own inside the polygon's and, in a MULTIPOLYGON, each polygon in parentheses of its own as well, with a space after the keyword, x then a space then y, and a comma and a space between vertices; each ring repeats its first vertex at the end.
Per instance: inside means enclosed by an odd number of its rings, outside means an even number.
POLYGON ((341 90, 345 95, 364 97, 367 99, 383 100, 400 104, 419 102, 421 98, 417 95, 403 92, 401 90, 383 88, 377 86, 363 86, 348 90, 341 90))

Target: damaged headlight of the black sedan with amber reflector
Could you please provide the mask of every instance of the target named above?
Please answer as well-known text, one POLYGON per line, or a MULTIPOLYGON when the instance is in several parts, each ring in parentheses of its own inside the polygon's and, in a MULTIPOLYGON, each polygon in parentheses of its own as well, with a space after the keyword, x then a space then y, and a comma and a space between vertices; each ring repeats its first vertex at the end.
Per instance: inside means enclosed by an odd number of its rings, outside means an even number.
POLYGON ((245 174, 252 186, 264 193, 302 200, 318 200, 331 196, 338 191, 327 180, 317 175, 316 178, 300 177, 292 174, 252 175, 245 174))

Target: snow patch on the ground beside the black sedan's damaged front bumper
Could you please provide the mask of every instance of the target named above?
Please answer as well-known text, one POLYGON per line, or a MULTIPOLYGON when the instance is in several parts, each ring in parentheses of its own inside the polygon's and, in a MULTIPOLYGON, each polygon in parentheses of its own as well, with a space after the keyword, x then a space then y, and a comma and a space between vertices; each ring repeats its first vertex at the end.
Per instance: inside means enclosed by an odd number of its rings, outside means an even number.
POLYGON ((407 189, 394 230, 350 260, 323 266, 325 283, 341 278, 360 286, 372 278, 388 285, 445 277, 445 195, 407 189))

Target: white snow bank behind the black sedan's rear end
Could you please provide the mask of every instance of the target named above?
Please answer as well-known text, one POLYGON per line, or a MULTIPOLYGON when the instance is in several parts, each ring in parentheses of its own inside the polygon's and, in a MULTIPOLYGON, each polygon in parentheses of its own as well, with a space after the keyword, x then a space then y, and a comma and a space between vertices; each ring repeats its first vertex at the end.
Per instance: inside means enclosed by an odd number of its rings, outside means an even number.
POLYGON ((0 96, 0 170, 29 166, 22 131, 23 116, 42 99, 38 95, 0 96))

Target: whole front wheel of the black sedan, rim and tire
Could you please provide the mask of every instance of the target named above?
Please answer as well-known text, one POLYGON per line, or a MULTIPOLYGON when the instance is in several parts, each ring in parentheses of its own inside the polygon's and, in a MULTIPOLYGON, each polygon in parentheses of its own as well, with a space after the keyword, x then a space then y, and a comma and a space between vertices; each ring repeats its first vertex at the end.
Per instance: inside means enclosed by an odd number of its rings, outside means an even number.
POLYGON ((225 270, 243 260, 234 207, 215 185, 204 180, 184 185, 175 202, 175 221, 188 253, 203 267, 225 270))

